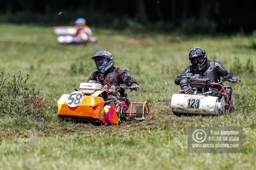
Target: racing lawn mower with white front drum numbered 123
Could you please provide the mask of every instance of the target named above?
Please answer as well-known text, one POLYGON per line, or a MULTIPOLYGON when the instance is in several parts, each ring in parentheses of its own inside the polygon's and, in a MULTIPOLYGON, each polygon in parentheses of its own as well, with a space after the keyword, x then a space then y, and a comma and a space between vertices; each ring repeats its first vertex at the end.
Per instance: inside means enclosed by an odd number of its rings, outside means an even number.
POLYGON ((190 79, 190 87, 183 93, 172 95, 171 110, 175 115, 225 115, 234 110, 234 99, 229 99, 223 82, 238 81, 223 77, 221 82, 211 83, 209 78, 183 77, 190 79))

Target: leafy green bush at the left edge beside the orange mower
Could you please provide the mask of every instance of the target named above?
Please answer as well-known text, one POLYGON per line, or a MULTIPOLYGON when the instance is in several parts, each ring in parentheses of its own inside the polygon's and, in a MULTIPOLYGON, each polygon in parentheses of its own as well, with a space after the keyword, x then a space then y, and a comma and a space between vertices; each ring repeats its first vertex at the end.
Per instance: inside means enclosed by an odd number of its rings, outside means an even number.
MULTIPOLYGON (((0 70, 0 119, 3 117, 30 117, 44 120, 46 110, 41 101, 36 101, 39 96, 43 101, 45 97, 34 83, 29 82, 30 74, 21 73, 4 77, 5 71, 0 70)), ((45 104, 44 104, 45 105, 45 104)))

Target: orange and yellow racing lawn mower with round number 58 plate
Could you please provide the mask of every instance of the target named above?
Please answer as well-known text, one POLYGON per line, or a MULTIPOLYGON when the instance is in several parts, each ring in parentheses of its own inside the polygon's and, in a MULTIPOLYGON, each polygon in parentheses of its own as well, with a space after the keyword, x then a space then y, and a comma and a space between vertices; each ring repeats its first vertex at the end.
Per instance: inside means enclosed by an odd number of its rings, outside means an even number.
POLYGON ((130 102, 127 94, 120 95, 125 89, 136 90, 125 84, 102 87, 99 82, 83 82, 79 90, 63 94, 58 100, 58 116, 108 125, 118 125, 122 120, 146 120, 150 115, 148 102, 130 102), (134 105, 139 105, 136 112, 134 105))

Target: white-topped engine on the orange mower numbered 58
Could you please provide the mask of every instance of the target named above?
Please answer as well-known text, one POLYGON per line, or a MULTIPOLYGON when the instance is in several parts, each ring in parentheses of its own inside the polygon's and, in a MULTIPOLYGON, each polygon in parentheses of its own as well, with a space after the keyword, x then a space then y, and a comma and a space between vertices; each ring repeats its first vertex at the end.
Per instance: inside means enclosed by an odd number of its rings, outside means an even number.
POLYGON ((82 82, 79 86, 79 91, 85 96, 85 95, 91 95, 95 91, 102 90, 102 85, 99 83, 90 83, 90 82, 82 82))

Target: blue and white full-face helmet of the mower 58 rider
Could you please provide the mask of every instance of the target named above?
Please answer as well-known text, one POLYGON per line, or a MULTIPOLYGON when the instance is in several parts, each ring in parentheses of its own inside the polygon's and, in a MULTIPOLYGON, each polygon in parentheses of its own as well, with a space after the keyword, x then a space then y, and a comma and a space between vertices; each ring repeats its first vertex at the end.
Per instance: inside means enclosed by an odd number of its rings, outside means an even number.
POLYGON ((101 73, 105 73, 114 65, 113 56, 108 51, 99 51, 92 59, 95 61, 96 67, 101 73))

